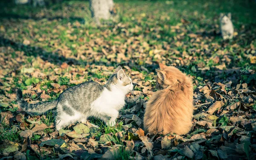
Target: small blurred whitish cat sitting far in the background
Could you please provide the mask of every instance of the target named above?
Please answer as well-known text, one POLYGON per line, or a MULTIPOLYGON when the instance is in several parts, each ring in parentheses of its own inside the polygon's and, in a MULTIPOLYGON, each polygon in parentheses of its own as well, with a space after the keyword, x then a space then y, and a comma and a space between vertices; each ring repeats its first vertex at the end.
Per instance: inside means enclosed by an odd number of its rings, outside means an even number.
POLYGON ((221 22, 221 35, 223 39, 232 39, 234 35, 234 27, 231 21, 231 13, 224 15, 221 13, 220 16, 221 22))

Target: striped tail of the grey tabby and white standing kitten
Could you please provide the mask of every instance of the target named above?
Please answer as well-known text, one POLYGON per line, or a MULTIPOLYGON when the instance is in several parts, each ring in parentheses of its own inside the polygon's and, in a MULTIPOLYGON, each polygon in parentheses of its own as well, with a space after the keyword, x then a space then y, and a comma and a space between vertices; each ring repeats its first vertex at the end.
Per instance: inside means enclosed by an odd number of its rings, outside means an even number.
POLYGON ((57 100, 44 103, 28 104, 26 101, 24 101, 22 91, 20 89, 17 90, 16 101, 20 108, 22 108, 24 111, 33 112, 37 114, 41 114, 48 111, 49 109, 53 109, 57 105, 57 100))

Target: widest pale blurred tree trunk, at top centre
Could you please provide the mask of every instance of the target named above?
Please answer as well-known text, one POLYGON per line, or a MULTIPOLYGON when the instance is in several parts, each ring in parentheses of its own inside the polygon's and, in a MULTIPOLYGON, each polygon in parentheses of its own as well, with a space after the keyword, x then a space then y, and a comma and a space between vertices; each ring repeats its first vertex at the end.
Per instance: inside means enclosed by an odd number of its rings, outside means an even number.
POLYGON ((100 24, 100 19, 109 20, 113 13, 113 0, 90 0, 90 11, 96 23, 100 24))

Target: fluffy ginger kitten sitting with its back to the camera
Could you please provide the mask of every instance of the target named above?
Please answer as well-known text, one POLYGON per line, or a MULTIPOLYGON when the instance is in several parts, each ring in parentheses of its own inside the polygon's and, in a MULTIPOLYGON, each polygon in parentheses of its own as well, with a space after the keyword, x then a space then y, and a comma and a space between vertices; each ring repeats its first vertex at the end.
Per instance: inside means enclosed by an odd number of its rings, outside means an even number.
POLYGON ((192 80, 175 67, 159 66, 158 91, 147 102, 144 129, 151 134, 186 134, 192 128, 192 80))

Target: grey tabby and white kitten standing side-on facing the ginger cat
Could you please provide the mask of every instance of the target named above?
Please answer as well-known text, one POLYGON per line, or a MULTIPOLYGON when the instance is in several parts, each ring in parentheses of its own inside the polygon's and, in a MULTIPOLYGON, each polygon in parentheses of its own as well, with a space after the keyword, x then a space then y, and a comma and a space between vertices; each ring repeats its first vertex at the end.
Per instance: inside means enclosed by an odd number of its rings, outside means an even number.
POLYGON ((86 123, 89 116, 100 118, 108 126, 114 126, 119 110, 125 105, 125 95, 132 89, 131 78, 119 66, 105 86, 87 81, 64 90, 54 101, 37 104, 24 101, 22 91, 18 89, 16 101, 23 110, 37 114, 57 107, 57 130, 76 121, 86 123))

